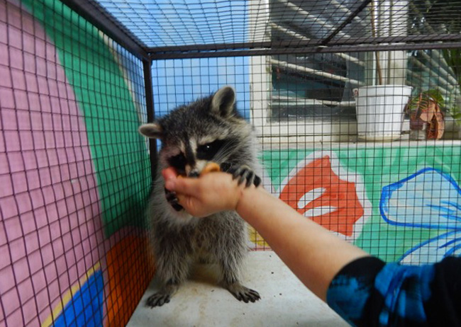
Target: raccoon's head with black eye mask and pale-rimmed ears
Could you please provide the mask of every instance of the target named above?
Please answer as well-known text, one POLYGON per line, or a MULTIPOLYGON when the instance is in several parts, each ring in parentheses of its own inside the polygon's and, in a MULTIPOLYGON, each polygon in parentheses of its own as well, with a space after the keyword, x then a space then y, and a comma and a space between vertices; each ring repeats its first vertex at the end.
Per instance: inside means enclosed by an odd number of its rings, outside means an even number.
POLYGON ((248 156, 245 144, 252 127, 238 115, 234 103, 233 88, 224 87, 142 125, 139 131, 162 141, 161 168, 172 166, 180 175, 199 176, 210 161, 223 164, 248 156))

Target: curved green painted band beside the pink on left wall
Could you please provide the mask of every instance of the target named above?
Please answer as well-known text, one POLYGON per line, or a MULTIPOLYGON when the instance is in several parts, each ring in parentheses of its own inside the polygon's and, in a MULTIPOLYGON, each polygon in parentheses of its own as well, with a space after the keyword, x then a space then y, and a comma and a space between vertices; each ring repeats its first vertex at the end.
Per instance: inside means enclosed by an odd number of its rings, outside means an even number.
POLYGON ((143 226, 150 164, 137 132, 141 115, 121 67, 99 31, 60 1, 22 2, 55 45, 84 115, 106 236, 143 226))

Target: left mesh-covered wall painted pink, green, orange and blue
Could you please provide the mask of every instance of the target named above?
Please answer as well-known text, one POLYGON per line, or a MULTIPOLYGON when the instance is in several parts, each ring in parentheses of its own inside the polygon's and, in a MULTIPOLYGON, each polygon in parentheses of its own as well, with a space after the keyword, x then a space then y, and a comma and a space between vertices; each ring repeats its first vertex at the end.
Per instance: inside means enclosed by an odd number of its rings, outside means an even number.
POLYGON ((60 1, 0 1, 0 326, 124 326, 153 275, 142 65, 60 1))

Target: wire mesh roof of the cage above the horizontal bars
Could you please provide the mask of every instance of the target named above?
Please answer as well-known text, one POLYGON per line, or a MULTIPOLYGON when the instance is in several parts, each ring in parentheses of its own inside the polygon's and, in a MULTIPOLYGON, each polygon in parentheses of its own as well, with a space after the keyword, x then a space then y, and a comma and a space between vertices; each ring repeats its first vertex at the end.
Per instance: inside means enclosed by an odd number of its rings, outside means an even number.
POLYGON ((291 48, 438 42, 441 35, 459 40, 460 31, 461 4, 450 0, 98 2, 150 48, 251 42, 279 47, 279 39, 268 37, 280 31, 283 46, 291 48))

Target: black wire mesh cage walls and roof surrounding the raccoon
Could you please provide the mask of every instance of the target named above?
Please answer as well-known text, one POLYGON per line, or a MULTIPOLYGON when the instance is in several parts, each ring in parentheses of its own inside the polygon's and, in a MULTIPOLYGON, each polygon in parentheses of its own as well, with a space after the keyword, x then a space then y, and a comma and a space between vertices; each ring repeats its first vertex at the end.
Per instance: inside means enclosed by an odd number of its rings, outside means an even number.
POLYGON ((460 18, 452 0, 0 0, 0 326, 128 322, 155 270, 160 144, 138 126, 226 85, 274 196, 386 261, 458 255, 460 18))

